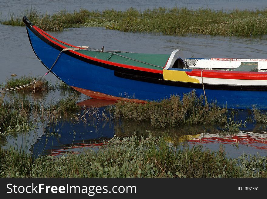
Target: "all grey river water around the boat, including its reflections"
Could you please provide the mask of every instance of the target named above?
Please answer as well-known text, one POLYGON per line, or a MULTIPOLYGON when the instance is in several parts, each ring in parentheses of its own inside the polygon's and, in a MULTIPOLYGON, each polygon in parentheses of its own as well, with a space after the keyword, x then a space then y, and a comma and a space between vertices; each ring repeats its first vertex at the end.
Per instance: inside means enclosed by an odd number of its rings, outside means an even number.
MULTIPOLYGON (((104 10, 107 8, 127 9, 136 7, 140 10, 145 8, 164 7, 209 7, 214 9, 256 9, 265 8, 266 1, 2 1, 0 0, 0 12, 2 18, 6 17, 9 10, 17 12, 29 6, 37 6, 42 11, 55 12, 66 8, 66 10, 78 10, 80 7, 86 9, 104 10)), ((267 36, 262 35, 253 38, 220 37, 220 36, 165 36, 161 34, 128 33, 104 28, 70 28, 63 32, 50 32, 60 40, 73 45, 89 45, 93 48, 105 46, 105 50, 123 50, 140 53, 170 54, 175 49, 181 49, 184 57, 190 58, 267 58, 267 36)), ((12 27, 0 25, 0 82, 5 82, 12 73, 21 75, 43 75, 47 69, 40 63, 32 51, 25 27, 12 27)), ((52 83, 56 78, 49 74, 46 79, 52 83)), ((65 97, 65 93, 49 93, 48 96, 40 98, 54 99, 65 97)), ((87 106, 108 105, 111 102, 87 99, 81 96, 80 104, 87 106)), ((244 121, 248 116, 247 112, 240 112, 238 118, 244 121)), ((59 121, 57 123, 40 123, 39 128, 30 133, 18 134, 1 138, 0 144, 4 148, 17 146, 25 148, 34 155, 42 154, 63 154, 66 151, 81 152, 84 148, 97 150, 105 141, 117 136, 129 136, 136 132, 145 134, 151 130, 157 135, 167 133, 167 130, 153 129, 149 124, 135 124, 127 121, 110 123, 97 121, 92 118, 89 122, 59 121), (55 134, 56 132, 56 134, 55 134), (51 134, 53 133, 53 134, 51 134), (59 136, 60 134, 61 136, 59 136), (47 141, 46 141, 47 139, 47 141), (95 143, 96 144, 92 144, 95 143), (52 149, 52 150, 51 150, 52 149)), ((170 144, 181 143, 181 147, 202 144, 204 147, 217 150, 221 144, 231 157, 237 157, 243 152, 267 155, 266 127, 255 124, 247 124, 237 135, 218 134, 216 128, 207 130, 207 127, 181 127, 168 131, 170 144), (216 133, 217 132, 217 133, 216 133), (191 135, 194 135, 193 137, 191 135), (174 139, 175 138, 175 139, 174 139), (235 146, 238 143, 238 147, 235 146)))

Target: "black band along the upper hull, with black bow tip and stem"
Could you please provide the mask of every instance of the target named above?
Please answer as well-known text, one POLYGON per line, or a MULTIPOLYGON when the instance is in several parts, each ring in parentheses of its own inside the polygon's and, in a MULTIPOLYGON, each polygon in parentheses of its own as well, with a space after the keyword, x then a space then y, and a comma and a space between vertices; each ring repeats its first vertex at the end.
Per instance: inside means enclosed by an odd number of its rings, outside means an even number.
MULTIPOLYGON (((40 38, 42 41, 46 42, 48 45, 52 46, 53 48, 56 48, 58 50, 62 50, 63 49, 59 45, 56 45, 54 42, 52 42, 51 39, 50 40, 47 39, 43 35, 44 33, 41 34, 35 28, 33 28, 33 25, 28 20, 28 18, 24 17, 23 21, 24 21, 25 25, 29 28, 29 30, 31 30, 36 35, 36 37, 40 38)), ((38 27, 36 27, 36 28, 38 28, 38 27)), ((40 28, 38 28, 38 29, 41 30, 40 28)), ((42 32, 44 32, 44 31, 42 31, 42 32)), ((30 43, 31 43, 31 46, 32 46, 32 42, 31 42, 31 38, 29 36, 28 29, 27 29, 27 33, 28 33, 28 37, 29 37, 29 40, 30 40, 30 43)), ((52 38, 52 36, 51 36, 51 38, 52 38)), ((65 43, 65 42, 63 42, 63 43, 65 43)), ((69 44, 67 44, 67 45, 69 45, 69 44)), ((70 46, 73 46, 73 45, 70 45, 70 46)), ((73 46, 73 47, 75 47, 75 46, 73 46)), ((33 49, 35 55, 37 56, 37 58, 41 61, 41 63, 46 68, 48 68, 42 62, 42 60, 39 58, 39 56, 36 54, 33 46, 32 46, 32 49, 33 49)), ((202 84, 201 83, 164 80, 163 79, 163 74, 162 74, 163 71, 162 70, 156 70, 157 73, 151 72, 151 70, 154 70, 154 69, 149 69, 149 71, 144 71, 144 70, 139 71, 139 70, 136 70, 136 69, 133 69, 133 68, 123 68, 123 67, 116 66, 116 65, 106 64, 106 63, 103 63, 103 62, 100 62, 100 61, 94 61, 94 60, 92 60, 90 58, 86 58, 84 56, 79 56, 78 54, 76 54, 77 52, 75 53, 74 51, 64 51, 64 53, 66 53, 67 55, 70 55, 70 56, 72 56, 74 58, 78 58, 81 61, 85 61, 87 63, 93 64, 93 65, 96 65, 96 66, 100 66, 100 67, 103 67, 103 68, 111 69, 111 70, 114 71, 114 75, 118 76, 118 77, 121 76, 122 78, 129 78, 129 79, 132 79, 132 80, 146 81, 146 82, 162 84, 162 85, 172 85, 172 86, 188 87, 188 88, 195 88, 195 89, 202 88, 202 84), (121 74, 121 75, 118 75, 118 74, 121 74)), ((142 69, 147 69, 147 68, 142 68, 142 69)), ((201 72, 201 70, 198 70, 198 69, 193 69, 192 71, 201 72)), ((204 70, 204 71, 210 71, 210 70, 204 70)), ((203 75, 204 75, 204 71, 203 71, 203 75)), ((53 73, 53 71, 51 71, 51 72, 53 73)), ((188 72, 188 71, 185 71, 185 72, 188 72)), ((223 71, 223 72, 231 72, 231 71, 223 71)), ((239 72, 239 71, 237 71, 237 72, 239 72)), ((244 72, 241 71, 241 73, 244 73, 244 72)), ((263 73, 263 72, 261 72, 261 73, 263 73)), ((55 73, 53 73, 53 74, 57 78, 59 78, 58 75, 56 75, 55 73)), ((61 80, 61 78, 59 78, 59 79, 61 80)), ((205 86, 205 89, 212 89, 212 90, 267 91, 267 86, 262 86, 262 85, 220 85, 220 84, 207 84, 207 83, 204 83, 204 86, 205 86)))

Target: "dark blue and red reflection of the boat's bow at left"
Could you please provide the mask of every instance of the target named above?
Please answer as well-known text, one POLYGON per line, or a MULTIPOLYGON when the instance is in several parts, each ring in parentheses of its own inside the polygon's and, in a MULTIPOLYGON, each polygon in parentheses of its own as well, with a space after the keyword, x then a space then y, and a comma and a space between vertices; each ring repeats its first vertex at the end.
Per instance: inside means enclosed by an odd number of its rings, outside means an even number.
MULTIPOLYGON (((78 103, 87 108, 98 108, 102 113, 107 105, 115 101, 87 99, 78 103)), ((88 109, 87 109, 88 110, 88 109)), ((96 110, 96 109, 94 109, 96 110)), ((52 121, 44 128, 44 134, 32 145, 33 157, 39 155, 62 155, 66 152, 81 153, 84 149, 98 150, 107 140, 113 138, 113 124, 106 120, 98 120, 94 115, 85 115, 81 120, 74 118, 69 120, 52 121)))

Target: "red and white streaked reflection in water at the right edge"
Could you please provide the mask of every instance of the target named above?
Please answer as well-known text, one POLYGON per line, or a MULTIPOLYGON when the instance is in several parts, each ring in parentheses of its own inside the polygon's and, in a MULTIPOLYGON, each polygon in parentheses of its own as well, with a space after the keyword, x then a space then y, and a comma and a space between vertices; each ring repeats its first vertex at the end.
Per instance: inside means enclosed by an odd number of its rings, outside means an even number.
POLYGON ((191 144, 208 144, 208 143, 222 143, 232 144, 249 144, 253 148, 267 150, 267 134, 238 134, 238 135, 216 135, 216 134, 198 134, 194 138, 188 139, 191 144))

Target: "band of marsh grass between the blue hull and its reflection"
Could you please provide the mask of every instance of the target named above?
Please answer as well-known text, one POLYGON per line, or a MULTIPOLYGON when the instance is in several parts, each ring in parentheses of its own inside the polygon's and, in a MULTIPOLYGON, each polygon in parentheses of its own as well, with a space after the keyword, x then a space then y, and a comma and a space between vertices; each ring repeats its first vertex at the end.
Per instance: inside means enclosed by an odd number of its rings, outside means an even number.
MULTIPOLYGON (((36 77, 22 76, 8 79, 2 88, 13 88, 29 82, 36 77)), ((31 93, 34 87, 25 87, 23 92, 31 93)), ((222 132, 238 132, 240 128, 246 128, 246 122, 258 124, 267 123, 267 114, 262 113, 254 106, 251 116, 247 121, 235 121, 233 113, 225 107, 213 103, 204 103, 204 97, 197 96, 195 91, 180 95, 173 95, 161 101, 148 101, 148 103, 136 103, 125 99, 118 100, 115 104, 107 106, 102 113, 98 108, 80 107, 76 104, 79 94, 73 88, 63 82, 52 85, 45 79, 35 86, 36 92, 48 92, 51 90, 68 91, 69 97, 45 103, 32 101, 13 95, 9 101, 0 98, 0 134, 5 135, 14 131, 30 131, 35 127, 36 121, 55 120, 60 118, 72 118, 74 121, 84 120, 85 117, 96 116, 98 120, 119 121, 121 119, 136 123, 149 123, 154 128, 176 128, 183 125, 217 125, 222 132)), ((12 91, 14 92, 14 91, 12 91)), ((20 92, 20 91, 18 91, 20 92)), ((233 111, 231 111, 233 112, 233 111)))

